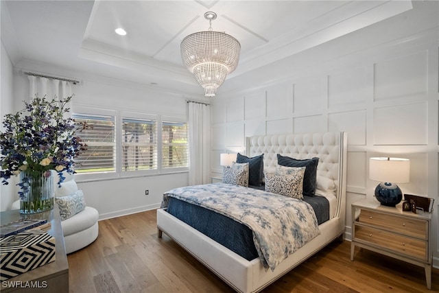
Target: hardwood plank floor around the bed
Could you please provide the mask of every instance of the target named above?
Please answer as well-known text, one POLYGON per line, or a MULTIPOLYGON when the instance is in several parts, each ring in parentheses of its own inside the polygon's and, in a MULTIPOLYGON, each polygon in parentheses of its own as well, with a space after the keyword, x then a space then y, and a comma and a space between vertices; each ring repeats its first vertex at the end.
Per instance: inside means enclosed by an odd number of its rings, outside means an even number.
MULTIPOLYGON (((439 292, 424 269, 335 241, 262 292, 439 292)), ((157 237, 156 211, 99 222, 99 237, 71 253, 70 292, 234 292, 165 233, 157 237)))

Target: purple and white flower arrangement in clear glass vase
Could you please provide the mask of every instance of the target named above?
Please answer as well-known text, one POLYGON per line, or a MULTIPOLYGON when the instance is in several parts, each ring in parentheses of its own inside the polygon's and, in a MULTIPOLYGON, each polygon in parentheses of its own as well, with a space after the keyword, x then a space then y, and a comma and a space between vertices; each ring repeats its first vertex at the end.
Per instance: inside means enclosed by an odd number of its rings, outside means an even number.
POLYGON ((0 132, 0 165, 3 185, 12 175, 20 174, 20 213, 40 213, 54 207, 54 176, 62 183, 62 172, 73 174, 73 158, 86 149, 76 130, 85 128, 65 118, 66 104, 71 97, 60 101, 38 95, 25 109, 3 119, 0 132), (53 170, 53 171, 52 171, 53 170))

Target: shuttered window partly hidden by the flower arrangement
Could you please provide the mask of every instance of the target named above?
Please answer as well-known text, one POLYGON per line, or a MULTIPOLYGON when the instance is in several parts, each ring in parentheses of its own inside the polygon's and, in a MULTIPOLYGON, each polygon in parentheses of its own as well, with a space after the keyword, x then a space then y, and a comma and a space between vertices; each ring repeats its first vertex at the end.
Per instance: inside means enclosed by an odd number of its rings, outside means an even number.
POLYGON ((73 119, 85 122, 88 128, 77 134, 87 144, 87 150, 75 158, 78 173, 115 172, 115 117, 110 115, 73 114, 73 119))

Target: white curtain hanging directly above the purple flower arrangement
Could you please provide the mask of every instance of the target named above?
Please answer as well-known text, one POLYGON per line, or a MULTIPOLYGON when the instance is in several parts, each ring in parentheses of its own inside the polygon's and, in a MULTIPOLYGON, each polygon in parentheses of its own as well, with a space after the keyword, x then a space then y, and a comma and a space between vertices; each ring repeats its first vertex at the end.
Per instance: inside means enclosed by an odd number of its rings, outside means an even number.
MULTIPOLYGON (((29 101, 32 101, 35 95, 38 97, 46 96, 48 100, 54 98, 60 100, 72 95, 71 82, 34 75, 27 75, 27 78, 29 79, 29 101)), ((71 109, 71 102, 66 107, 71 109)))

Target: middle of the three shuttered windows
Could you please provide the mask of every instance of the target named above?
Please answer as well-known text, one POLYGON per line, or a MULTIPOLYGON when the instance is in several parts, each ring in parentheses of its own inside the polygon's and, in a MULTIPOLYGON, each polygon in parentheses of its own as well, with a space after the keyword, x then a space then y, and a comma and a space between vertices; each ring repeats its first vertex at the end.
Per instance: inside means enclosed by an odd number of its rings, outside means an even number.
POLYGON ((157 121, 122 118, 122 172, 157 169, 157 121))

